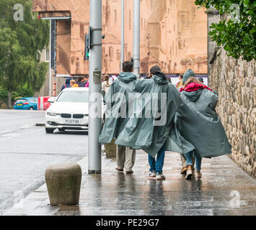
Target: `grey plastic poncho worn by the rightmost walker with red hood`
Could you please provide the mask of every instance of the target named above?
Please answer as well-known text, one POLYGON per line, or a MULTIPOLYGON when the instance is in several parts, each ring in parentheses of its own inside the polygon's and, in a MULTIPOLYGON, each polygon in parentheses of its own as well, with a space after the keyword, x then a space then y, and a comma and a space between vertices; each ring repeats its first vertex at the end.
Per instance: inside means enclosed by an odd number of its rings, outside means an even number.
MULTIPOLYGON (((217 94, 200 89, 193 92, 182 91, 180 96, 182 105, 177 110, 176 136, 180 135, 181 139, 193 144, 200 157, 219 157, 231 153, 231 145, 215 110, 217 94)), ((174 133, 171 133, 167 143, 172 143, 174 137, 174 133)))

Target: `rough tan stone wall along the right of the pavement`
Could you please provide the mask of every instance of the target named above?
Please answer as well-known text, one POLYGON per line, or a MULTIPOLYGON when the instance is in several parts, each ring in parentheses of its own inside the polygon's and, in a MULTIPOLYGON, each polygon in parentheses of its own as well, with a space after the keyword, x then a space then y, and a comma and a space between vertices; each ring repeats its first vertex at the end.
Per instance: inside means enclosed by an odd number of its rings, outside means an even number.
POLYGON ((219 48, 211 61, 209 86, 219 95, 217 112, 232 146, 231 157, 256 177, 256 61, 235 60, 219 48))

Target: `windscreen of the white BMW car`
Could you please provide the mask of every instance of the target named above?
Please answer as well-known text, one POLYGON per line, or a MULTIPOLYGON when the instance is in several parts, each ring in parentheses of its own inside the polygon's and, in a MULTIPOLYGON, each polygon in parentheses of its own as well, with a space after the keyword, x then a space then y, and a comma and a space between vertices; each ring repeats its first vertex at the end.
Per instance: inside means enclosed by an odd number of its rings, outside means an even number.
POLYGON ((58 102, 88 102, 89 91, 63 91, 57 99, 58 102))

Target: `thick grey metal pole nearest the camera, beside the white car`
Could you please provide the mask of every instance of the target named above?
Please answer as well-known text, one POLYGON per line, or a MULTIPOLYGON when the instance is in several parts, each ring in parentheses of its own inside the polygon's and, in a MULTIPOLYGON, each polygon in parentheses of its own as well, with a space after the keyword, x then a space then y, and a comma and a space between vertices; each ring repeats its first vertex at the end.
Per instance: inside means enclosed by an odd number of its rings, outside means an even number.
POLYGON ((89 154, 88 173, 101 173, 102 111, 102 0, 90 0, 91 44, 89 53, 89 154), (97 114, 95 114, 95 109, 97 114), (96 115, 96 116, 95 116, 96 115), (100 116, 99 116, 100 115, 100 116))

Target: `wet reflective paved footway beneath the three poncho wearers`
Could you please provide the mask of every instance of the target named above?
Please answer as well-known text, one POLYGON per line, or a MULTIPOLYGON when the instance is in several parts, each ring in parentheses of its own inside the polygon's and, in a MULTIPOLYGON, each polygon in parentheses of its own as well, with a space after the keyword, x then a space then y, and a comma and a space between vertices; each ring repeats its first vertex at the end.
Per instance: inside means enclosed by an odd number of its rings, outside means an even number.
POLYGON ((143 151, 137 151, 133 175, 115 172, 115 167, 112 159, 102 167, 102 175, 85 173, 79 206, 60 206, 55 215, 256 215, 256 180, 227 155, 204 158, 202 178, 192 180, 180 175, 180 155, 175 152, 166 154, 164 181, 147 178, 143 151))

